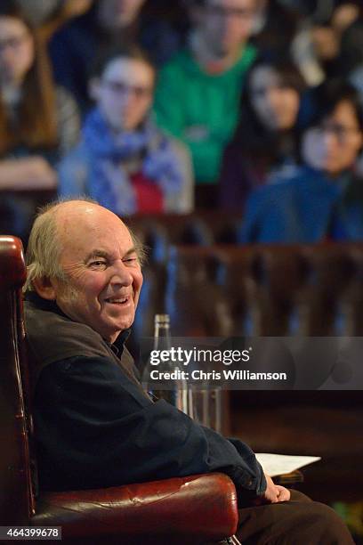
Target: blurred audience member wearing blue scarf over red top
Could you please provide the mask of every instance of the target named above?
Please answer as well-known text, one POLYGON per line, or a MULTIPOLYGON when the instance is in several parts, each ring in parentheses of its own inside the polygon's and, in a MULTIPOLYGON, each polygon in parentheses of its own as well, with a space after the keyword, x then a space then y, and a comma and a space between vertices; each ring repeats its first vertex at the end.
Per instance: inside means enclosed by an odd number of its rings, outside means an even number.
POLYGON ((60 163, 60 195, 89 195, 119 215, 190 212, 189 153, 150 118, 154 83, 155 69, 135 47, 101 58, 90 83, 96 107, 60 163))

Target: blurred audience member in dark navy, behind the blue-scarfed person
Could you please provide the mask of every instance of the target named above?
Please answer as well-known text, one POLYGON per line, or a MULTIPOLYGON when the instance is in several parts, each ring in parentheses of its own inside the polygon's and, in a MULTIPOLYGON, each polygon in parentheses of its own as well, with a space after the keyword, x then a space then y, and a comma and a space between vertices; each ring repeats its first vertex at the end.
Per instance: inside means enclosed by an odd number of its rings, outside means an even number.
POLYGON ((137 43, 160 64, 181 46, 181 36, 167 20, 142 17, 144 4, 145 0, 97 0, 52 38, 56 80, 76 96, 82 110, 90 105, 87 79, 100 50, 137 43))

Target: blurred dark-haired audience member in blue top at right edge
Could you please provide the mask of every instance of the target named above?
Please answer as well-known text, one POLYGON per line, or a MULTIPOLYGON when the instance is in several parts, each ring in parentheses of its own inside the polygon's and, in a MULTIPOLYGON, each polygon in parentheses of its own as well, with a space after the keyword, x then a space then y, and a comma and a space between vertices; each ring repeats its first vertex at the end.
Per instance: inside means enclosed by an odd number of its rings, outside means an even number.
POLYGON ((363 180, 354 171, 363 111, 351 85, 330 81, 309 95, 303 165, 289 180, 254 191, 241 242, 363 240, 363 180))

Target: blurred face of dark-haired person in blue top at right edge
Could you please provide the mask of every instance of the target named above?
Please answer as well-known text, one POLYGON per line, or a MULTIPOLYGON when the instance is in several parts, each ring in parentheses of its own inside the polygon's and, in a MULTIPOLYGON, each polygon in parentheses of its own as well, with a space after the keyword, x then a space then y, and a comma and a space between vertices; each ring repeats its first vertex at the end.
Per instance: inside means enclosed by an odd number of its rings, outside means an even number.
POLYGON ((328 175, 340 175, 357 160, 362 138, 354 108, 344 100, 331 116, 303 135, 303 159, 310 167, 328 175))

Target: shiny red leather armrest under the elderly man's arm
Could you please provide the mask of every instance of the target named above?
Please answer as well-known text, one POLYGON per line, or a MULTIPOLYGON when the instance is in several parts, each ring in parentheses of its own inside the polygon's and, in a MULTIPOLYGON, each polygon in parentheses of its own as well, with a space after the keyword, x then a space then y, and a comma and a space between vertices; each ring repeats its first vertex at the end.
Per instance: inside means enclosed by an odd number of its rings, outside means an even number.
POLYGON ((31 519, 31 525, 61 526, 65 538, 151 534, 205 541, 229 537, 237 523, 235 486, 219 473, 103 490, 47 492, 38 499, 31 519))

